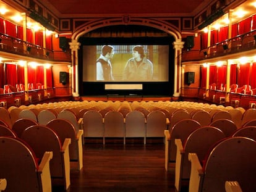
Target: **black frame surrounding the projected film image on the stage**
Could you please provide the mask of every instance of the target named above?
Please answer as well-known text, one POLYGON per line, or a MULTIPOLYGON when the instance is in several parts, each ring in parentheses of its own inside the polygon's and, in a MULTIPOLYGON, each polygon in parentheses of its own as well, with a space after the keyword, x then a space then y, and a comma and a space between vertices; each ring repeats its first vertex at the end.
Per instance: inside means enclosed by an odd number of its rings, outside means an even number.
POLYGON ((173 94, 174 83, 174 38, 167 37, 139 37, 139 38, 79 38, 79 94, 80 96, 108 95, 108 94, 140 94, 140 95, 164 95, 173 94), (168 45, 169 46, 169 77, 168 81, 83 81, 83 46, 86 45, 120 45, 120 44, 138 44, 138 45, 168 45), (106 84, 142 84, 142 90, 106 90, 106 84))

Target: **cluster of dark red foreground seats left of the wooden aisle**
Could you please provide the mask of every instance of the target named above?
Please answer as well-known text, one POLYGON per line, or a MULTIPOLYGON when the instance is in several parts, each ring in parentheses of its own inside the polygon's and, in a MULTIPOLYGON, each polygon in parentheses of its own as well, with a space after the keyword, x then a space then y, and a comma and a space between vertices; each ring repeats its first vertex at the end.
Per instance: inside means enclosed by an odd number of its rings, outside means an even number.
POLYGON ((0 165, 0 177, 5 176, 10 183, 7 185, 7 190, 51 191, 51 182, 56 179, 61 179, 67 190, 70 186, 70 163, 75 161, 79 170, 83 167, 82 134, 82 130, 77 133, 72 123, 64 119, 53 119, 47 125, 38 125, 32 119, 19 119, 12 128, 0 125, 0 138, 2 139, 0 148, 5 148, 1 150, 1 162, 3 163, 0 165), (23 145, 20 146, 20 144, 23 145), (19 152, 15 152, 16 150, 19 152), (25 158, 27 152, 24 150, 32 154, 29 156, 30 160, 28 157, 25 158), (43 161, 45 156, 48 157, 48 163, 43 161), (33 164, 29 165, 31 161, 35 162, 35 167, 39 168, 41 164, 37 165, 37 162, 47 163, 48 168, 44 169, 49 169, 49 171, 43 173, 38 168, 32 169, 34 172, 19 169, 19 167, 33 166, 33 164), (27 174, 26 177, 24 173, 27 174), (39 180, 35 178, 35 174, 38 175, 39 180), (24 182, 23 179, 27 181, 24 182))

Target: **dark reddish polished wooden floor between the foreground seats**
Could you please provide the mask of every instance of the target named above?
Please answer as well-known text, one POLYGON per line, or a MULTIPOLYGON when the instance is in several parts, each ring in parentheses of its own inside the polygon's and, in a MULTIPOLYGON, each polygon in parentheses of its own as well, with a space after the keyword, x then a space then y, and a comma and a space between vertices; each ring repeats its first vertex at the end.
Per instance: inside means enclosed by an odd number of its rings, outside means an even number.
POLYGON ((175 191, 174 172, 164 170, 163 143, 85 144, 83 169, 72 169, 70 182, 71 192, 175 191))

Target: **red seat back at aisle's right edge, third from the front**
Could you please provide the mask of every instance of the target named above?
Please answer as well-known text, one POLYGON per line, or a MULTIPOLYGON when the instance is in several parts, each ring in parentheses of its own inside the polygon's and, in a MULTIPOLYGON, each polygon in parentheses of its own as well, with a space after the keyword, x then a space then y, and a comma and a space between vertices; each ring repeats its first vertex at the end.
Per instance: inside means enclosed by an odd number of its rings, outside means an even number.
POLYGON ((187 137, 194 131, 199 128, 201 125, 196 120, 193 119, 183 119, 177 122, 173 127, 170 127, 170 141, 169 141, 169 161, 175 162, 176 159, 176 145, 175 139, 181 139, 182 144, 187 139, 187 137))

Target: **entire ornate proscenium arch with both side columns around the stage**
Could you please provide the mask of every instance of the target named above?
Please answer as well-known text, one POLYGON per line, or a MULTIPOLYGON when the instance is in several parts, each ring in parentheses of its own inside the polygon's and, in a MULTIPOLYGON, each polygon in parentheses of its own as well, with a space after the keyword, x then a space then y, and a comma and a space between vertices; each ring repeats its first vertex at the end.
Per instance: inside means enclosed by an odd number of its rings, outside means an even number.
POLYGON ((181 40, 181 32, 177 27, 171 25, 164 20, 156 20, 149 18, 130 17, 130 15, 123 15, 122 17, 114 17, 109 19, 94 19, 91 22, 85 22, 78 28, 75 28, 72 35, 72 42, 69 43, 72 53, 72 90, 73 96, 79 96, 78 86, 78 50, 80 43, 78 42, 80 36, 85 33, 96 30, 97 28, 113 26, 113 25, 142 25, 147 27, 157 28, 174 37, 174 97, 179 97, 181 93, 181 49, 184 42, 181 40))

